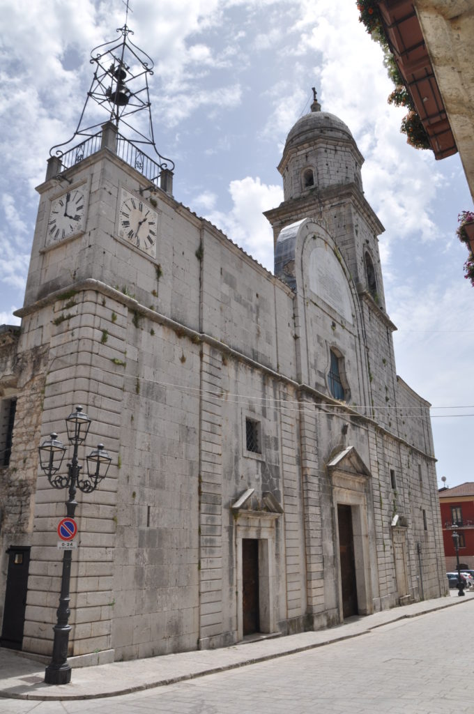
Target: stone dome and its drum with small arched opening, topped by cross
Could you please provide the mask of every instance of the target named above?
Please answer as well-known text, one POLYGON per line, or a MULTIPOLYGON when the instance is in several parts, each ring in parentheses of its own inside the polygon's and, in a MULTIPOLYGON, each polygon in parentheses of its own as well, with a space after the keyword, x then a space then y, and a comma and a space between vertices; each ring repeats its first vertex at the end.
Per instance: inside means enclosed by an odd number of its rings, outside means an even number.
POLYGON ((348 126, 334 114, 321 111, 313 87, 311 112, 298 119, 286 137, 278 171, 283 176, 284 200, 316 189, 356 183, 362 191, 363 156, 348 126))

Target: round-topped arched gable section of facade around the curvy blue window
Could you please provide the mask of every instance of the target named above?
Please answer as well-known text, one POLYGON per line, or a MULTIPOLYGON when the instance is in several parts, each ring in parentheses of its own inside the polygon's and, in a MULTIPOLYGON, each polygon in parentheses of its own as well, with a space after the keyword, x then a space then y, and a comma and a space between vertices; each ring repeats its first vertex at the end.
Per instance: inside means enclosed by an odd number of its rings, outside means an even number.
POLYGON ((295 291, 300 381, 327 392, 331 348, 344 356, 351 401, 368 403, 360 303, 341 249, 322 223, 303 218, 276 241, 275 272, 295 291))

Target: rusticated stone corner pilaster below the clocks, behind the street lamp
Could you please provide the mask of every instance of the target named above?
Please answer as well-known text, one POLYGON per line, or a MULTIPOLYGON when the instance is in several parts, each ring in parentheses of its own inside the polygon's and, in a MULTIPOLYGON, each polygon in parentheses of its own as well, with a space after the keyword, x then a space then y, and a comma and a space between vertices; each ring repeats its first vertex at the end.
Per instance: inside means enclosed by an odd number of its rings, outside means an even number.
MULTIPOLYGON (((64 419, 79 403, 93 420, 86 444, 79 447, 81 463, 99 442, 113 458, 106 480, 94 493, 76 494, 79 548, 74 550, 71 568, 69 656, 101 650, 109 651, 111 659, 114 513, 126 308, 109 298, 102 299, 95 291, 84 291, 62 296, 50 311, 44 312, 52 326, 41 438, 56 431, 69 446, 64 419)), ((71 448, 64 459, 64 471, 71 448)), ((66 498, 66 490, 51 488, 46 476, 39 475, 23 643, 29 652, 51 652, 52 625, 56 622, 61 589, 56 526, 66 515, 66 498)))

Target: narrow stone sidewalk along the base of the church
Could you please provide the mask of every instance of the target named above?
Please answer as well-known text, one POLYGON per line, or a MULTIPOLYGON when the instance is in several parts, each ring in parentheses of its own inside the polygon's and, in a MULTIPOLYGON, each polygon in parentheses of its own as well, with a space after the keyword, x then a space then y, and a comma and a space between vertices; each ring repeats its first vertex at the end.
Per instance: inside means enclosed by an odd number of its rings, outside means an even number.
POLYGON ((71 683, 61 686, 44 684, 43 663, 26 658, 13 650, 0 648, 0 697, 44 701, 83 700, 128 694, 311 650, 363 635, 374 628, 404 618, 415 618, 455 605, 467 607, 468 603, 474 600, 474 592, 466 593, 464 598, 458 598, 457 595, 457 591, 452 590, 449 598, 425 600, 374 615, 349 618, 343 625, 318 632, 258 639, 218 650, 195 650, 76 668, 73 669, 71 683))

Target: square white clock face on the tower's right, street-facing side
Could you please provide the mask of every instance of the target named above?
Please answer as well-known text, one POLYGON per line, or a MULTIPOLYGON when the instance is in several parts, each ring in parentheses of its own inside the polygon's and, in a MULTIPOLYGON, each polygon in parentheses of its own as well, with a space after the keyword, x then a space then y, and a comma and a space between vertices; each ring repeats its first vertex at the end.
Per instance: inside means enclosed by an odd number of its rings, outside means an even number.
POLYGON ((119 208, 119 236, 132 246, 156 256, 158 213, 138 196, 122 189, 119 208))

